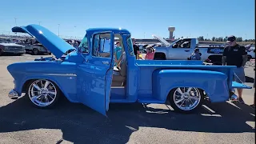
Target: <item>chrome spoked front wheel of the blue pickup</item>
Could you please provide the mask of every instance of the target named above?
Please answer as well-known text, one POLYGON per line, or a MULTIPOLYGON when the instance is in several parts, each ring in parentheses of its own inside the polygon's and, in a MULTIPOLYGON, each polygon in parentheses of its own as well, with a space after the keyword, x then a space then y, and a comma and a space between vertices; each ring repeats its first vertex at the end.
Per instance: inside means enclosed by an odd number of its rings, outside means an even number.
POLYGON ((57 87, 53 82, 39 79, 31 83, 28 96, 34 105, 39 107, 50 106, 58 96, 57 87))

